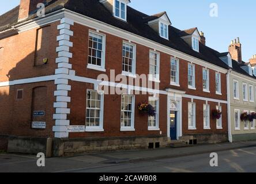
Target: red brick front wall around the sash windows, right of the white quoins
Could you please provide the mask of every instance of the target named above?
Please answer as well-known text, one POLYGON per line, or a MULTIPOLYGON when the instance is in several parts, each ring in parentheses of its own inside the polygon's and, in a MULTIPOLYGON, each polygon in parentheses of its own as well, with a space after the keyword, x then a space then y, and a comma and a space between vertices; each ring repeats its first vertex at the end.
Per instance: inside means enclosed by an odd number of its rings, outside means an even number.
MULTIPOLYGON (((76 75, 86 76, 89 78, 97 78, 97 75, 103 73, 100 71, 95 71, 86 68, 88 64, 88 33, 89 30, 93 30, 86 26, 74 24, 71 28, 74 32, 74 37, 71 37, 73 42, 73 58, 70 59, 73 65, 73 70, 76 70, 76 75)), ((106 74, 110 78, 110 70, 114 69, 115 74, 121 74, 122 72, 122 43, 123 39, 113 36, 108 33, 106 34, 106 74)), ((127 41, 127 40, 125 40, 127 41)), ((153 48, 145 47, 144 45, 136 44, 136 73, 148 74, 149 71, 149 50, 153 48)), ((205 98, 220 99, 227 101, 227 87, 226 87, 226 76, 221 74, 221 93, 222 95, 217 95, 215 93, 215 74, 216 71, 209 69, 209 89, 211 93, 203 92, 202 87, 202 69, 204 67, 195 64, 195 87, 197 90, 188 89, 188 78, 187 78, 187 64, 191 61, 186 61, 179 59, 179 78, 180 87, 170 85, 170 58, 171 55, 160 52, 160 90, 165 90, 167 88, 186 91, 186 94, 195 95, 205 98)), ((73 125, 84 125, 85 124, 85 112, 86 112, 86 89, 93 89, 93 85, 84 84, 80 82, 71 82, 72 90, 70 92, 71 97, 71 113, 70 121, 73 125), (77 95, 77 94, 80 95, 77 95)), ((148 95, 136 95, 135 106, 138 102, 148 99, 148 95)), ((164 135, 167 133, 167 97, 161 95, 160 97, 160 130, 164 135)), ((182 124, 183 133, 227 133, 227 105, 221 104, 223 112, 223 129, 216 129, 216 120, 211 118, 210 130, 204 130, 203 122, 203 104, 205 101, 194 100, 197 104, 197 130, 189 131, 187 123, 187 103, 191 102, 191 99, 183 98, 183 108, 182 108, 182 124)), ((216 108, 218 103, 208 102, 210 105, 210 116, 212 110, 216 108)), ((120 132, 120 106, 121 106, 121 96, 119 95, 105 95, 104 96, 104 132, 101 133, 71 133, 71 137, 88 137, 88 136, 132 136, 132 135, 149 135, 155 134, 159 135, 157 132, 149 132, 147 127, 147 117, 141 117, 138 114, 137 109, 135 109, 135 132, 120 132)))

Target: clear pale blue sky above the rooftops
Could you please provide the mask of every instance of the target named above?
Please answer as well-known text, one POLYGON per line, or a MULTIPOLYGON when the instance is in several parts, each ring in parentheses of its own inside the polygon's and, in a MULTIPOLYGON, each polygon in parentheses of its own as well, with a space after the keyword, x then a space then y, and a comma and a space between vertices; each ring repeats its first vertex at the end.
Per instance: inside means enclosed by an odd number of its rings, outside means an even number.
MULTIPOLYGON (((0 1, 0 14, 17 6, 20 0, 0 1)), ((131 0, 134 9, 146 14, 167 11, 178 29, 197 27, 205 33, 206 45, 220 52, 228 51, 232 39, 240 37, 243 60, 256 54, 256 1, 251 0, 131 0), (210 4, 217 3, 218 17, 210 17, 210 4)))

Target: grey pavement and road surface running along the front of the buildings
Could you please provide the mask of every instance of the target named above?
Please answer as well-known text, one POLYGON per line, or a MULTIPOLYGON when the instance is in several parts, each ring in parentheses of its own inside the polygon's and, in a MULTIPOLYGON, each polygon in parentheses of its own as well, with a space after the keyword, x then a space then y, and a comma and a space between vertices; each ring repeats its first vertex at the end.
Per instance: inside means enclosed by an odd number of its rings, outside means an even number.
MULTIPOLYGON (((155 163, 156 160, 184 160, 186 158, 190 160, 189 162, 191 162, 191 159, 196 162, 196 160, 201 160, 201 155, 204 155, 205 160, 207 160, 209 159, 209 153, 211 152, 217 152, 219 154, 220 152, 224 153, 226 151, 226 161, 224 160, 224 162, 227 162, 227 160, 231 160, 229 157, 234 156, 234 150, 242 150, 239 151, 240 154, 249 153, 249 156, 253 156, 255 158, 256 163, 256 141, 243 141, 238 143, 195 145, 193 147, 184 148, 160 148, 157 150, 100 152, 61 158, 48 158, 46 159, 46 167, 37 166, 36 163, 38 158, 36 158, 35 155, 0 154, 0 172, 143 172, 147 170, 155 172, 156 170, 150 170, 150 165, 155 163), (138 167, 137 170, 133 168, 135 166, 138 167), (141 166, 143 169, 141 168, 140 170, 139 166, 141 166), (130 170, 127 170, 126 168, 130 168, 130 170)), ((248 158, 247 160, 250 161, 250 164, 252 163, 251 161, 253 161, 249 159, 250 157, 244 156, 244 158, 248 158)), ((156 162, 156 165, 158 163, 159 161, 156 162)), ((176 163, 180 164, 186 162, 177 161, 176 163)), ((208 166, 209 163, 206 163, 208 166)), ((255 163, 253 163, 254 166, 256 165, 255 163)), ((164 164, 161 164, 159 167, 162 168, 163 165, 164 164)), ((186 166, 186 164, 184 166, 186 166)), ((251 168, 253 169, 254 167, 251 168)), ((182 170, 182 168, 180 169, 182 170)), ((163 171, 167 170, 165 169, 163 171)))

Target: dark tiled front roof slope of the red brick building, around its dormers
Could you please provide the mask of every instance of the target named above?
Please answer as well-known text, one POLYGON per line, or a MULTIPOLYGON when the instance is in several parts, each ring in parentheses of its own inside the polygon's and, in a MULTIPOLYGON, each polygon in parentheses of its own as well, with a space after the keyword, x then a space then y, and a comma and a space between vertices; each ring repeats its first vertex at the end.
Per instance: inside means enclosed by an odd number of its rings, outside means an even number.
MULTIPOLYGON (((95 20, 99 20, 106 24, 126 30, 127 32, 145 37, 146 39, 155 41, 156 43, 165 45, 166 47, 176 49, 190 56, 197 57, 198 59, 204 60, 205 62, 212 63, 222 68, 229 68, 219 59, 219 56, 217 56, 217 53, 219 52, 215 51, 214 49, 211 49, 201 43, 199 43, 199 52, 191 49, 191 47, 183 39, 180 38, 180 32, 182 32, 182 30, 176 29, 171 25, 169 26, 169 40, 161 38, 159 33, 155 32, 155 30, 150 28, 150 26, 145 23, 145 17, 150 16, 141 13, 140 11, 137 11, 129 6, 127 6, 127 22, 114 18, 112 13, 97 0, 53 0, 50 5, 46 6, 46 13, 62 9, 63 7, 80 13, 84 16, 91 17, 95 20)), ((161 16, 161 14, 158 16, 161 16)), ((32 14, 28 17, 28 19, 35 17, 36 14, 32 14)), ((0 26, 2 26, 2 24, 0 24, 0 26)), ((185 31, 183 30, 183 32, 185 31)), ((193 29, 186 30, 187 34, 191 32, 193 32, 193 29)))

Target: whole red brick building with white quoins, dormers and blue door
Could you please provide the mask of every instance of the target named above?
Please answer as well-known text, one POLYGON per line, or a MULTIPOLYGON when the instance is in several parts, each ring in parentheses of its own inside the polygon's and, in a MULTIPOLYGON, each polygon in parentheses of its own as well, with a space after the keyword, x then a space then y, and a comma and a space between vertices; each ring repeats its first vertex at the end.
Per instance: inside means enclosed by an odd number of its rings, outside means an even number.
POLYGON ((176 29, 167 13, 148 16, 129 2, 21 0, 0 17, 1 149, 63 155, 227 141, 220 53, 197 28, 176 29), (121 94, 100 91, 122 81, 111 70, 133 81, 121 94), (135 83, 136 74, 153 85, 135 83), (155 117, 139 112, 144 101, 155 117))

